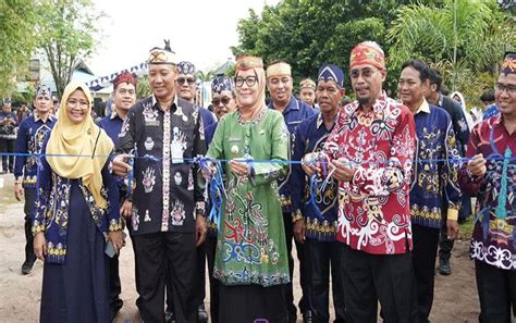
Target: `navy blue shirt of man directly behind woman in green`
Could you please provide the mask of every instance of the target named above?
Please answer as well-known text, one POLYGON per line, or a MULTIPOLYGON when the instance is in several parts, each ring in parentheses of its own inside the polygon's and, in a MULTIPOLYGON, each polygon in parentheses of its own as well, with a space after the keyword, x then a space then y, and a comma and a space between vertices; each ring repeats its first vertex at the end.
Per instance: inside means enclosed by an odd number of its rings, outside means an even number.
MULTIPOLYGON (((274 109, 273 102, 269 103, 270 109, 274 109)), ((294 141, 297 126, 305 119, 312 116, 317 112, 310 105, 297 100, 294 96, 291 97, 288 104, 283 110, 283 119, 285 120, 286 127, 291 134, 291 150, 288 154, 292 157, 294 153, 294 141)), ((292 174, 292 164, 288 164, 288 172, 285 176, 278 179, 278 188, 280 189, 280 202, 284 213, 294 212, 292 208, 291 192, 293 190, 292 183, 290 182, 292 174)))

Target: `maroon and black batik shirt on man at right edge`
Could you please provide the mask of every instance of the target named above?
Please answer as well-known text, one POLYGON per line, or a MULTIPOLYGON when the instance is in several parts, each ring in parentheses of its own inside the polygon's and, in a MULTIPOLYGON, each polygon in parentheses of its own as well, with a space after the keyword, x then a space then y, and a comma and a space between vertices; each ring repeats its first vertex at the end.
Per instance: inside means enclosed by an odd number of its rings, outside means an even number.
POLYGON ((516 132, 508 134, 502 114, 474 127, 466 157, 477 153, 488 161, 486 175, 477 178, 466 163, 459 173, 460 187, 477 195, 470 256, 516 271, 516 132))

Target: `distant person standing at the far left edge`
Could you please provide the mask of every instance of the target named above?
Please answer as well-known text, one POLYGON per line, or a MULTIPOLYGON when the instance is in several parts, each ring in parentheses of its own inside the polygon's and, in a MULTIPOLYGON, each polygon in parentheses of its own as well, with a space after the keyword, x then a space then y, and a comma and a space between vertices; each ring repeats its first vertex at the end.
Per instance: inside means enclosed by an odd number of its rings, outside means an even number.
POLYGON ((0 153, 2 154, 2 174, 14 172, 14 141, 16 140, 17 116, 12 111, 11 101, 3 100, 0 111, 0 153), (10 156, 8 156, 10 154, 10 156))

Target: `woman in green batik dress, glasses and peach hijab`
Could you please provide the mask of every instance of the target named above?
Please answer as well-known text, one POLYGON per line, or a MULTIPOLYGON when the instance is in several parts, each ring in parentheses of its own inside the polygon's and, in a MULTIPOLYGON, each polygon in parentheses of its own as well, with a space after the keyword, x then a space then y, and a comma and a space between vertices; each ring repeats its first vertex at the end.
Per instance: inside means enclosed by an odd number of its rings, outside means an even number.
POLYGON ((286 171, 288 132, 283 115, 266 105, 261 59, 237 60, 235 91, 237 109, 219 122, 208 150, 229 160, 213 270, 219 322, 283 323, 290 276, 277 178, 286 171))

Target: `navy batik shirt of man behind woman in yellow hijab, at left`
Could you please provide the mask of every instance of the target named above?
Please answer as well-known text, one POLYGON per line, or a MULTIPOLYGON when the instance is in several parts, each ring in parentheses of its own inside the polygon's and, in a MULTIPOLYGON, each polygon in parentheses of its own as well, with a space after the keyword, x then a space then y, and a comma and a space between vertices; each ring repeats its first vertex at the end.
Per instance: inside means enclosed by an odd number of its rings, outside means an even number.
MULTIPOLYGON (((49 137, 50 131, 56 124, 56 117, 49 115, 47 121, 38 114, 25 117, 20 124, 16 138, 15 152, 27 154, 39 154, 44 151, 44 142, 49 137)), ((23 187, 35 188, 37 181, 37 157, 16 156, 14 160, 14 178, 22 181, 23 187)))

